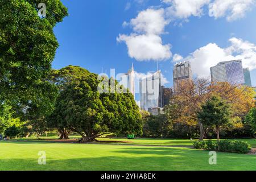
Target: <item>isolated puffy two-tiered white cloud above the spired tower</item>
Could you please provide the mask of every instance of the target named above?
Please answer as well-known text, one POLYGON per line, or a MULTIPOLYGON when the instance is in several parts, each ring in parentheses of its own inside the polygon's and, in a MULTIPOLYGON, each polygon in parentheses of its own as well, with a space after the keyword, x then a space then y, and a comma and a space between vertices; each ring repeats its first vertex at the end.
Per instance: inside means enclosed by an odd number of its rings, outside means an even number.
POLYGON ((131 19, 129 23, 123 23, 123 26, 132 26, 134 33, 119 35, 117 42, 125 42, 129 56, 138 61, 170 59, 171 45, 164 45, 160 37, 167 24, 163 9, 141 11, 137 18, 131 19))

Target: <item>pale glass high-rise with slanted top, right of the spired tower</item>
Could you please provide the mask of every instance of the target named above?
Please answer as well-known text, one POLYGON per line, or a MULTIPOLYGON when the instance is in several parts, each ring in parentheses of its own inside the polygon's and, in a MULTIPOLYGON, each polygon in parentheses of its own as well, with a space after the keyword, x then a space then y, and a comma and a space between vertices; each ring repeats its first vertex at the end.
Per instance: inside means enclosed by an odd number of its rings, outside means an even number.
POLYGON ((161 72, 139 80, 139 92, 141 95, 141 109, 152 110, 152 108, 163 107, 161 72))

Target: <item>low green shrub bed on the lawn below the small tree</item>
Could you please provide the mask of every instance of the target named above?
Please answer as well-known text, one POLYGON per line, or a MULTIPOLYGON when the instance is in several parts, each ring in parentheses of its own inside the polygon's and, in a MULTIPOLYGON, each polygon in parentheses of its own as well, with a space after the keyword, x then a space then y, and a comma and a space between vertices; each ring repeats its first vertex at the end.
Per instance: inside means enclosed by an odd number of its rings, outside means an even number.
POLYGON ((251 150, 251 146, 247 142, 220 140, 214 143, 212 140, 195 141, 193 146, 196 149, 203 149, 208 151, 231 152, 238 154, 246 154, 251 150))

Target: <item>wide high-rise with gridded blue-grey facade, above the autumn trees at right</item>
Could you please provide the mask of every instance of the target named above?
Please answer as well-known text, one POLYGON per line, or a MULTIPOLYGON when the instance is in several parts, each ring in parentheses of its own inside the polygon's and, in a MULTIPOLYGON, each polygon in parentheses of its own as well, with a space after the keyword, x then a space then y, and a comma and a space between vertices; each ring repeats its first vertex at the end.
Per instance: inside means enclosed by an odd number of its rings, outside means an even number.
POLYGON ((210 68, 213 82, 229 82, 230 84, 245 84, 242 60, 223 61, 210 68))

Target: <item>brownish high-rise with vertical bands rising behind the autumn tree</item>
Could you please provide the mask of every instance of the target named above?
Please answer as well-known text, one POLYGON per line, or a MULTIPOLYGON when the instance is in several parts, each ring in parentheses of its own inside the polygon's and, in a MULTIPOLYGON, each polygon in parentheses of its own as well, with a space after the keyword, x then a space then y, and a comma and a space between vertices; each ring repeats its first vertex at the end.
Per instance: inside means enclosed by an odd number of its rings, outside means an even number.
POLYGON ((191 64, 188 61, 174 65, 174 94, 179 93, 181 85, 192 81, 191 64))

